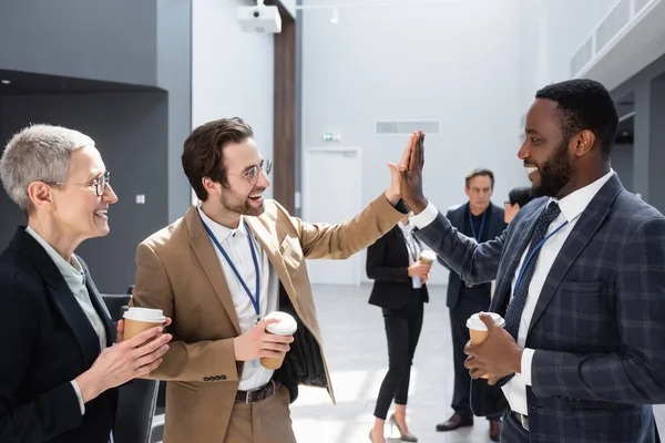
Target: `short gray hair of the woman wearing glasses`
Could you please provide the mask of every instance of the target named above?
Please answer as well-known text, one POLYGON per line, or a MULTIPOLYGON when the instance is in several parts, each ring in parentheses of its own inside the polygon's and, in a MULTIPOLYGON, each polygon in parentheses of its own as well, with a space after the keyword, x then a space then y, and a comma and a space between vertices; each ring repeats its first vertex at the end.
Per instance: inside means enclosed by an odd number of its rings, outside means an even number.
POLYGON ((37 124, 21 130, 0 158, 0 179, 7 194, 31 214, 30 184, 66 182, 72 153, 85 146, 94 146, 92 138, 66 127, 37 124))

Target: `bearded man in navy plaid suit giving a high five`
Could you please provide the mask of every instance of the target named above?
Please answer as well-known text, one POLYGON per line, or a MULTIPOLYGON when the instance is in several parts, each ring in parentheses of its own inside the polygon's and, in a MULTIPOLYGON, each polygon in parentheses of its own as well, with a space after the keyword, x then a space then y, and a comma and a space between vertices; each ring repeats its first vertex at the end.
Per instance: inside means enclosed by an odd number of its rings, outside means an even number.
POLYGON ((468 344, 474 414, 505 413, 502 442, 652 443, 665 403, 665 218, 610 164, 607 90, 571 80, 536 93, 519 158, 535 195, 478 245, 422 194, 422 138, 402 161, 419 238, 464 281, 497 277, 488 339, 468 344), (489 380, 481 378, 490 374, 489 380))

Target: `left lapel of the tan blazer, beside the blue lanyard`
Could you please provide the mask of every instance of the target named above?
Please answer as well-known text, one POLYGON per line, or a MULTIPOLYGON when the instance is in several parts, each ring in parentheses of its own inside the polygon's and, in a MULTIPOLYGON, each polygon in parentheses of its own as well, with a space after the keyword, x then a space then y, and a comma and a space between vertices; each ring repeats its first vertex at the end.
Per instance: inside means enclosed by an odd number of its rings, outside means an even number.
POLYGON ((185 223, 187 224, 187 229, 190 230, 192 249, 194 249, 194 254, 196 255, 196 258, 198 258, 201 267, 205 271, 207 278, 211 280, 217 297, 219 297, 219 301, 222 301, 222 306, 224 306, 224 310, 231 319, 236 333, 241 334, 238 315, 235 310, 235 305, 233 303, 231 292, 228 291, 228 284, 224 277, 222 265, 219 264, 217 253, 215 251, 215 246, 205 231, 195 206, 192 206, 187 210, 187 214, 185 214, 185 223))

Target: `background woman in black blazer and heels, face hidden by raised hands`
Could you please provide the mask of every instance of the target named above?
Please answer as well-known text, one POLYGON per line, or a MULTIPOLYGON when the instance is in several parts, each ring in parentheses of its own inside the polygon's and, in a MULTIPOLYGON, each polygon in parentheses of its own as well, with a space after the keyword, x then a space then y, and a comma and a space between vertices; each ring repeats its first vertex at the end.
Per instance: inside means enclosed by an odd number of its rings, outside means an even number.
POLYGON ((383 426, 390 403, 395 413, 390 424, 401 440, 417 442, 406 421, 407 396, 413 353, 422 328, 423 303, 429 301, 427 286, 431 265, 419 261, 422 246, 405 217, 367 249, 367 277, 375 280, 369 303, 382 308, 388 338, 388 373, 381 383, 375 409, 375 426, 369 439, 385 442, 383 426))

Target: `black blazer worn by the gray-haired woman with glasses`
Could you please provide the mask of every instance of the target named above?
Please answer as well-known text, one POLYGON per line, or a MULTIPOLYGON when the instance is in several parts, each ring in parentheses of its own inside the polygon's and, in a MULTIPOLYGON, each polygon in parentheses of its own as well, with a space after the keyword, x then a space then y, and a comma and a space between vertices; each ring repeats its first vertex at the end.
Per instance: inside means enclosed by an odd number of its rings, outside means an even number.
MULTIPOLYGON (((88 267, 90 298, 113 323, 88 267)), ((85 403, 81 415, 71 380, 90 369, 99 338, 60 270, 21 226, 0 255, 0 443, 106 443, 117 391, 85 403)))

